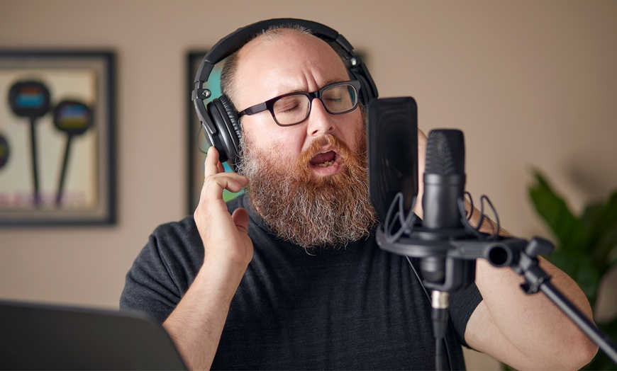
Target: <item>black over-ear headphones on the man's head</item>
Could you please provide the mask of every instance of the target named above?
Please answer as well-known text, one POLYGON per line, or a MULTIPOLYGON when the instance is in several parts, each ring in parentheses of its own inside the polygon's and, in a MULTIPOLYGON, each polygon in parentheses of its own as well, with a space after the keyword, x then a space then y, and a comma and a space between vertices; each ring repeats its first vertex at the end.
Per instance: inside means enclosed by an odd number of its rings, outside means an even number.
POLYGON ((304 21, 294 18, 277 18, 253 23, 243 28, 238 28, 234 33, 227 35, 212 47, 201 62, 195 76, 194 90, 191 100, 195 105, 197 116, 201 121, 201 127, 206 132, 210 145, 218 149, 221 162, 227 161, 231 169, 235 169, 240 152, 240 122, 238 113, 226 96, 214 98, 208 105, 204 100, 211 98, 211 91, 204 88, 215 64, 223 61, 226 57, 243 47, 257 33, 267 30, 272 26, 301 25, 313 32, 318 38, 328 42, 340 55, 348 69, 350 79, 360 81, 360 102, 367 105, 372 99, 377 98, 377 87, 368 72, 362 59, 353 51, 352 45, 343 35, 321 23, 304 21))

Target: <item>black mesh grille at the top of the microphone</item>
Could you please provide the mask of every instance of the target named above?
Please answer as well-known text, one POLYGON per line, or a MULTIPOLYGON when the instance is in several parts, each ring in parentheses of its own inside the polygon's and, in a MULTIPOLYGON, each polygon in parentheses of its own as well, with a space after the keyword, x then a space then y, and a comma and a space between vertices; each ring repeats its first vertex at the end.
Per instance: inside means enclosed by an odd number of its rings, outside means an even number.
POLYGON ((426 173, 465 174, 465 139, 460 130, 440 129, 428 133, 426 173))

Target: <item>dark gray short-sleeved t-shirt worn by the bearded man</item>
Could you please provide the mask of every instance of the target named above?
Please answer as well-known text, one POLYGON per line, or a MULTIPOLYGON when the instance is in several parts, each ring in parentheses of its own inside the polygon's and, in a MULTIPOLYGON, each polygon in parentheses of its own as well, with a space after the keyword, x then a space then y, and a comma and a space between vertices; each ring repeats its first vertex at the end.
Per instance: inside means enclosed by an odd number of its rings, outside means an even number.
MULTIPOLYGON (((434 370, 430 302, 404 256, 382 251, 374 236, 309 255, 272 234, 245 197, 228 206, 249 210, 255 254, 213 369, 434 370)), ((192 217, 157 227, 126 275, 121 310, 165 321, 203 261, 192 217)), ((481 300, 475 285, 450 295, 453 370, 465 368, 465 326, 481 300)))

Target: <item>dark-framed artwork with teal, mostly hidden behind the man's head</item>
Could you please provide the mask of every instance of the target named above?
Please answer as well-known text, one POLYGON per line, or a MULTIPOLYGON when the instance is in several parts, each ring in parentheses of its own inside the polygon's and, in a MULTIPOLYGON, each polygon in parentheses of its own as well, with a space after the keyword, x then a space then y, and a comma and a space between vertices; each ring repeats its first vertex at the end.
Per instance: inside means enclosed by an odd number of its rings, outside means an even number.
MULTIPOLYGON (((187 159, 188 159, 188 190, 187 190, 187 213, 190 215, 195 211, 199 203, 199 194, 201 186, 204 184, 204 161, 206 160, 206 152, 208 151, 209 143, 201 129, 201 122, 197 117, 193 102, 191 101, 191 91, 194 89, 195 74, 201 64, 202 59, 206 55, 207 50, 196 50, 187 53, 187 118, 188 118, 188 142, 187 142, 187 159)), ((218 98, 221 96, 221 69, 223 63, 218 63, 214 66, 209 79, 208 87, 212 91, 212 97, 218 98)), ((209 103, 206 101, 206 104, 209 103)), ((231 169, 224 164, 226 171, 231 169)), ((231 193, 228 190, 223 191, 223 200, 233 200, 240 193, 231 193)))

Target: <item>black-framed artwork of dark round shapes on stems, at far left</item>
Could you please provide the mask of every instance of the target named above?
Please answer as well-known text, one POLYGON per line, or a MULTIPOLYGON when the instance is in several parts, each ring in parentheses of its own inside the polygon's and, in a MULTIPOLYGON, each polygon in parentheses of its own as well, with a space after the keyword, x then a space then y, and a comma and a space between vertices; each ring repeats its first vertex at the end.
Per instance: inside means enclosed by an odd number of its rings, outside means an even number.
POLYGON ((0 226, 116 222, 116 57, 0 50, 0 226))

